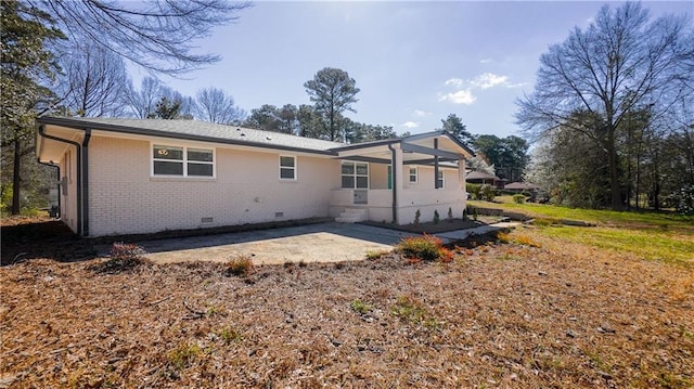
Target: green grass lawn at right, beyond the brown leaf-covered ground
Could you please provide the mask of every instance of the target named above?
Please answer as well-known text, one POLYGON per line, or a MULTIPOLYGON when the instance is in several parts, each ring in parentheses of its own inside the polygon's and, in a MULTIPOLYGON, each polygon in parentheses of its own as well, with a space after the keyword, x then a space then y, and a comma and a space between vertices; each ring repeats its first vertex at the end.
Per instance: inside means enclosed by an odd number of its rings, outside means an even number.
POLYGON ((542 204, 515 204, 511 196, 498 203, 470 202, 486 208, 502 208, 537 218, 538 232, 550 237, 590 246, 628 251, 648 260, 672 261, 694 265, 694 217, 659 212, 618 212, 576 209, 542 204), (594 228, 568 226, 555 220, 580 220, 594 228))

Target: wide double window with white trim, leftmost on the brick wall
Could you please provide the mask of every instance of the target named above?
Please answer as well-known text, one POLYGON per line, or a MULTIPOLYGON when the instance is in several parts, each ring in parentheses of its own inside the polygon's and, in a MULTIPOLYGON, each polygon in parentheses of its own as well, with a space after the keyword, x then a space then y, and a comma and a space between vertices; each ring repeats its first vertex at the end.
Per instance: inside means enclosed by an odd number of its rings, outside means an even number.
POLYGON ((162 177, 215 177, 211 148, 152 145, 152 173, 162 177))

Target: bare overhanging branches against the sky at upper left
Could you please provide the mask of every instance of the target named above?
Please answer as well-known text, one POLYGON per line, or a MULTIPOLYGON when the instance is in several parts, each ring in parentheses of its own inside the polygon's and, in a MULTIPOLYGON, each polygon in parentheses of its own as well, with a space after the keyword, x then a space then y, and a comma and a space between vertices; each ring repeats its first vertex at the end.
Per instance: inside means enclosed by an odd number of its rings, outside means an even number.
POLYGON ((219 61, 194 41, 239 18, 249 2, 226 0, 28 0, 59 21, 72 41, 92 41, 155 73, 180 75, 219 61))

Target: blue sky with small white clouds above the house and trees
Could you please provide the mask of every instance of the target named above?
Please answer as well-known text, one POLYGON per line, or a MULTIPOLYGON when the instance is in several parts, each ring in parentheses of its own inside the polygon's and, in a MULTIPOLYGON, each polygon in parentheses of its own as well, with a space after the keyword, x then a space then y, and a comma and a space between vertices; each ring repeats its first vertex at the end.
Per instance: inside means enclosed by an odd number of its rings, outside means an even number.
MULTIPOLYGON (((420 133, 457 114, 472 133, 506 137, 517 133, 514 102, 532 90, 539 56, 603 4, 256 2, 200 42, 222 61, 163 81, 185 95, 223 89, 249 112, 309 104, 304 82, 337 67, 361 89, 354 120, 420 133)), ((694 14, 693 1, 643 5, 653 16, 694 14)))

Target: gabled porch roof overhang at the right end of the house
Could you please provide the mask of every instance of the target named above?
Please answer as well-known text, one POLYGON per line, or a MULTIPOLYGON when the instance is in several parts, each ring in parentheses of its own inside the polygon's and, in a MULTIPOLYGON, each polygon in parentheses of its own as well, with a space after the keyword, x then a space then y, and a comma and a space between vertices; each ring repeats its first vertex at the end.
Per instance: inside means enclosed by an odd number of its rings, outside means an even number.
POLYGON ((333 148, 338 159, 390 164, 391 150, 402 150, 403 165, 455 163, 475 154, 447 131, 434 131, 401 139, 388 139, 333 148))

